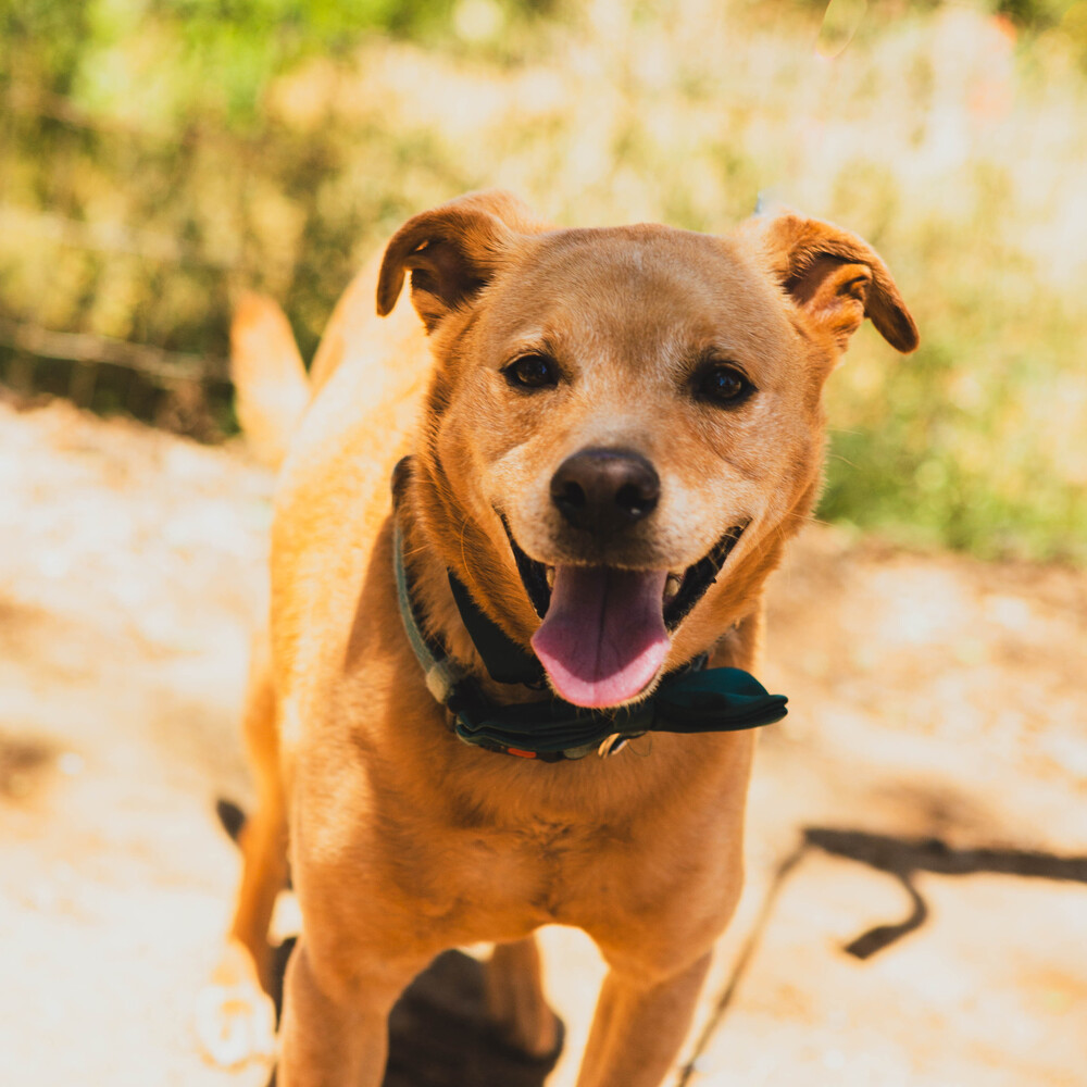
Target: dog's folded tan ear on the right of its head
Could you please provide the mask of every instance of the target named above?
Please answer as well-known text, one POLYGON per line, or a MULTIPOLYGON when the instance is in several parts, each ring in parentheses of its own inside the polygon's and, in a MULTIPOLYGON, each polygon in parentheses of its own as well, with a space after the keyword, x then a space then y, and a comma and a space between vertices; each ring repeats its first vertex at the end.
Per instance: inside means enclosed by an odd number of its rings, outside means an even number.
POLYGON ((787 212, 754 221, 777 282, 797 307, 845 351, 865 317, 891 347, 917 346, 917 326, 887 265, 855 235, 787 212))

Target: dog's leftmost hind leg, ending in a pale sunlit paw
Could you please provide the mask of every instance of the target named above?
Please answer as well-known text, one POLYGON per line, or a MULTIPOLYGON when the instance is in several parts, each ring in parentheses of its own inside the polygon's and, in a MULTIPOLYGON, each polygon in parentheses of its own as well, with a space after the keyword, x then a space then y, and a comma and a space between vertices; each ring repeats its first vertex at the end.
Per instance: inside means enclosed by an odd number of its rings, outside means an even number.
POLYGON ((239 835, 241 885, 226 947, 197 1009, 201 1045, 224 1066, 266 1057, 274 1049, 275 1009, 270 994, 275 979, 267 933, 287 879, 287 814, 266 647, 266 635, 254 639, 243 719, 258 801, 239 835))

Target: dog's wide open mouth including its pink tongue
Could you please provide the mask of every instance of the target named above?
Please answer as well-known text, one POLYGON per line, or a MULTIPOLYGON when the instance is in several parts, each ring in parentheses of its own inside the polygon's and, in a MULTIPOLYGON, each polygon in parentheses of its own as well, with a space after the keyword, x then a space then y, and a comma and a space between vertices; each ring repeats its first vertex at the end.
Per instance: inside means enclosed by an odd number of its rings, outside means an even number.
POLYGON ((678 572, 546 566, 521 550, 507 525, 521 580, 544 620, 533 649, 559 695, 604 708, 645 690, 667 653, 669 635, 716 580, 747 524, 729 528, 678 572))

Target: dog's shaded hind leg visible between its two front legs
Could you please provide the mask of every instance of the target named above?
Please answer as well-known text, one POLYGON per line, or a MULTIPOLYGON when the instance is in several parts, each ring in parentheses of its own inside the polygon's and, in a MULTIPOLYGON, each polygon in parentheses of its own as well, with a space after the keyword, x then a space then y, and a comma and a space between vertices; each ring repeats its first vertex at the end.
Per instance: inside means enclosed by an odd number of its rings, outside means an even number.
POLYGON ((497 944, 487 964, 487 1011, 503 1041, 530 1057, 559 1045, 559 1020, 544 996, 536 938, 497 944))

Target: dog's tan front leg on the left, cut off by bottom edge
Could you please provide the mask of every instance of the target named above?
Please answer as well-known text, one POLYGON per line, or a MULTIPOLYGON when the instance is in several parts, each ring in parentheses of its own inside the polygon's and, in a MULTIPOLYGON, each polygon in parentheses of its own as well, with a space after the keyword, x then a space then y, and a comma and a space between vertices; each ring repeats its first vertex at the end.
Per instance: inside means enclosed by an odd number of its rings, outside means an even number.
POLYGON ((277 1087, 380 1087, 389 1012, 426 963, 357 965, 315 955, 299 938, 284 982, 277 1087))

